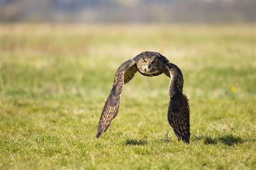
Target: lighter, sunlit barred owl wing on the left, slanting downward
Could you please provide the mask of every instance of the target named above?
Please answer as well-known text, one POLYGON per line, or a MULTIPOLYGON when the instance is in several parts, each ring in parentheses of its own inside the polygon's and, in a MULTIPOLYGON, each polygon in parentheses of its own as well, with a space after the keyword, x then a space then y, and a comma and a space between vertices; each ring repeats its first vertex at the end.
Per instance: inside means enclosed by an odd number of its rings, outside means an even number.
POLYGON ((100 137, 102 132, 105 132, 109 128, 112 119, 117 116, 123 85, 129 82, 136 72, 136 62, 132 60, 124 62, 117 69, 117 73, 114 76, 113 87, 110 91, 109 97, 107 97, 102 115, 99 119, 98 132, 96 135, 97 138, 100 137))

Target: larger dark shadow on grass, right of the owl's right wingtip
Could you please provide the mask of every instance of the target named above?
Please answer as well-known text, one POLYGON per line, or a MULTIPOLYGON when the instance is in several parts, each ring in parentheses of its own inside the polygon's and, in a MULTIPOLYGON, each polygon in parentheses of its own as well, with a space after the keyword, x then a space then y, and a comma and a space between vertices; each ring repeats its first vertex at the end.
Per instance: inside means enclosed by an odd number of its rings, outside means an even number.
POLYGON ((203 140, 206 145, 215 145, 218 143, 222 143, 228 146, 232 146, 234 144, 244 143, 247 140, 244 140, 240 137, 235 137, 233 134, 225 134, 224 136, 213 138, 211 136, 199 136, 194 140, 203 140))

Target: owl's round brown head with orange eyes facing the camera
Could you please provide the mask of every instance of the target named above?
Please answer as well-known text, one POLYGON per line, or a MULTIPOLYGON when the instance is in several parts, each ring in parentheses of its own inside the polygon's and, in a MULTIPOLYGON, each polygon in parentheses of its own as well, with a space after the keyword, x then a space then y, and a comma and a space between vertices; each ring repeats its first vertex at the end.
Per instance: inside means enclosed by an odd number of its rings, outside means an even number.
POLYGON ((160 53, 157 52, 143 52, 137 62, 137 68, 143 75, 154 75, 163 73, 164 63, 161 61, 160 53))

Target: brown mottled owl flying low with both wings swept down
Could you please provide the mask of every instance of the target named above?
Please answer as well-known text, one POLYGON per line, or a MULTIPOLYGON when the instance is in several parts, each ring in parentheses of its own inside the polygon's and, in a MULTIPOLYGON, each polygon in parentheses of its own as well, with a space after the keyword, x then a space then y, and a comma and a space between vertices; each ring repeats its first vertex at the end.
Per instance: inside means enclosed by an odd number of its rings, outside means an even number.
POLYGON ((164 73, 170 77, 170 102, 167 112, 168 122, 178 140, 190 142, 190 108, 188 99, 183 94, 183 75, 180 69, 170 63, 165 56, 157 52, 143 52, 133 59, 125 61, 114 76, 113 87, 105 101, 99 119, 97 138, 105 132, 113 118, 117 116, 122 88, 136 72, 145 76, 157 76, 164 73))

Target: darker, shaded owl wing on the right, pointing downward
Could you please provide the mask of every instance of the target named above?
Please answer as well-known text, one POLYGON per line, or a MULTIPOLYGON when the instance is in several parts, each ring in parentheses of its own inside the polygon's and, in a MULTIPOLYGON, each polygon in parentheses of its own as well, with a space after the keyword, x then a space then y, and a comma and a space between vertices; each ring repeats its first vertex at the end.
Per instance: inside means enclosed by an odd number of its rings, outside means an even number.
POLYGON ((164 73, 171 78, 168 122, 178 140, 190 143, 190 108, 183 94, 183 75, 173 63, 167 63, 164 73))

